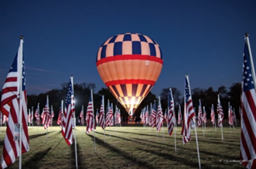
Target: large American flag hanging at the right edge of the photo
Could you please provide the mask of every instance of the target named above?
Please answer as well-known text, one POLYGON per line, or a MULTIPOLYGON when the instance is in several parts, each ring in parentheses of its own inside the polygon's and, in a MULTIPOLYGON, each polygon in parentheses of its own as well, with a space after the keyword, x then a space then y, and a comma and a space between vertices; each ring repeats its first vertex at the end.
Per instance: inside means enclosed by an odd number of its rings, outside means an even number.
POLYGON ((244 40, 243 77, 241 93, 240 159, 248 169, 256 168, 256 93, 255 71, 248 34, 244 40))

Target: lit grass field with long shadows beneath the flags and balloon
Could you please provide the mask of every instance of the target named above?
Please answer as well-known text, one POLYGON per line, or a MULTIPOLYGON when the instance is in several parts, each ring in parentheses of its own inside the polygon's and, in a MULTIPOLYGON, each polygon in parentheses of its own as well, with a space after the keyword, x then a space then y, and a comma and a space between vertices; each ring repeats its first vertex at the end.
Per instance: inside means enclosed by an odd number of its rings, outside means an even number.
MULTIPOLYGON (((73 169, 76 168, 75 146, 68 146, 61 135, 61 128, 42 126, 29 128, 30 151, 22 155, 23 169, 73 169)), ((192 131, 192 140, 183 145, 181 127, 177 127, 177 151, 174 149, 174 133, 167 134, 164 127, 157 133, 151 127, 109 127, 104 130, 97 127, 95 130, 96 152, 94 152, 93 132, 85 134, 86 127, 78 126, 77 154, 79 169, 189 169, 198 168, 198 157, 195 141, 195 132, 192 131), (114 131, 113 131, 114 129, 114 131), (111 134, 111 137, 109 136, 111 134), (105 143, 104 143, 105 138, 105 143)), ((0 154, 2 154, 5 127, 0 134, 0 154)), ((224 141, 221 140, 221 130, 207 127, 205 137, 202 128, 197 128, 200 160, 202 169, 239 169, 240 127, 223 128, 224 141)), ((19 159, 10 166, 17 169, 19 159)))

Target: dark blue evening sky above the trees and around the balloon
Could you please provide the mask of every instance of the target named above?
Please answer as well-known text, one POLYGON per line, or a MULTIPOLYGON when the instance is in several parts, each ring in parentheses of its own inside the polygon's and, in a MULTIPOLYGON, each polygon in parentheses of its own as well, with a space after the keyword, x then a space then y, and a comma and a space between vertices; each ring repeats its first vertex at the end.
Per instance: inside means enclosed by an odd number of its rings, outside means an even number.
MULTIPOLYGON (((0 1, 0 86, 24 36, 28 94, 74 83, 105 84, 96 68, 99 47, 125 32, 145 34, 163 52, 163 69, 152 93, 176 87, 185 74, 191 89, 242 79, 244 33, 256 55, 256 1, 93 0, 0 1)), ((255 59, 254 59, 255 60, 255 59)))

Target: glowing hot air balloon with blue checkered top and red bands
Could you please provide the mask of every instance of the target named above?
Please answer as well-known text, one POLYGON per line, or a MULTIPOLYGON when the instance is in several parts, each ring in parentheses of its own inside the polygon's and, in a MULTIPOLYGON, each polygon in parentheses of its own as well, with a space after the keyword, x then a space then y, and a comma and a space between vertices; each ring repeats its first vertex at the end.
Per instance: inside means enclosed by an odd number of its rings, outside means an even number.
POLYGON ((134 113, 161 73, 163 55, 148 36, 123 33, 102 44, 96 65, 111 93, 128 113, 134 113))

